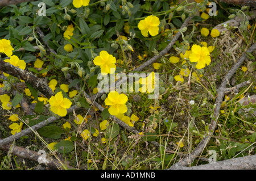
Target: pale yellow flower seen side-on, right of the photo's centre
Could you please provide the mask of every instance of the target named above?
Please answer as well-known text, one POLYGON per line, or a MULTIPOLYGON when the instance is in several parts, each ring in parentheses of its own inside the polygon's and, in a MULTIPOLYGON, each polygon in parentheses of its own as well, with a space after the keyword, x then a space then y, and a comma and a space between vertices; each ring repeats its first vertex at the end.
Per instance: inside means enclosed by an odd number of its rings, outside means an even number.
POLYGON ((146 78, 140 78, 139 83, 142 84, 142 87, 139 88, 140 92, 146 92, 150 94, 155 90, 155 73, 152 71, 146 78))

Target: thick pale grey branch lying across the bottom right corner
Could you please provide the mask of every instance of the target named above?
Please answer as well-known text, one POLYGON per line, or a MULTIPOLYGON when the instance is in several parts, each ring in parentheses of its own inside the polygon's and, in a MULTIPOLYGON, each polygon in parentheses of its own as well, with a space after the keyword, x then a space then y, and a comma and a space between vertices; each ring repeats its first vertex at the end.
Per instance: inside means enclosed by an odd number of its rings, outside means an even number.
POLYGON ((226 159, 216 163, 208 163, 205 165, 184 167, 179 166, 179 170, 255 170, 256 154, 245 157, 226 159))

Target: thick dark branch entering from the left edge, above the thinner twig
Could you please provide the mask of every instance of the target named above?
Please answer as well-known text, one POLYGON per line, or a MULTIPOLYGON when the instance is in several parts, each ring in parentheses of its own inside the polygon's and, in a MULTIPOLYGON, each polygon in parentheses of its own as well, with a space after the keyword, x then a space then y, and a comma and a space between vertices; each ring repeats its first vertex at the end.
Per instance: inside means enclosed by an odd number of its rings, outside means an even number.
POLYGON ((53 95, 52 89, 45 82, 43 82, 42 79, 36 77, 34 74, 31 74, 26 70, 16 68, 16 66, 13 66, 9 64, 9 62, 5 62, 1 59, 0 70, 30 83, 31 86, 39 90, 42 94, 46 95, 48 99, 53 95))

